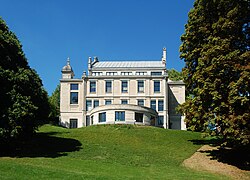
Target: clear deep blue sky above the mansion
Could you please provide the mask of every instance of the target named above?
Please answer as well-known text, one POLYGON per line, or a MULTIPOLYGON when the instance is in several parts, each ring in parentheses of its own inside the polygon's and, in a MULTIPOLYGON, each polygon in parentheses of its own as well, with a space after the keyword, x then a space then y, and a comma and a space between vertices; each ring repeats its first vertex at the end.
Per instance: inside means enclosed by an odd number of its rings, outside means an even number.
POLYGON ((23 45, 49 95, 70 57, 76 78, 89 56, 159 60, 180 71, 180 36, 194 0, 0 0, 0 16, 23 45))

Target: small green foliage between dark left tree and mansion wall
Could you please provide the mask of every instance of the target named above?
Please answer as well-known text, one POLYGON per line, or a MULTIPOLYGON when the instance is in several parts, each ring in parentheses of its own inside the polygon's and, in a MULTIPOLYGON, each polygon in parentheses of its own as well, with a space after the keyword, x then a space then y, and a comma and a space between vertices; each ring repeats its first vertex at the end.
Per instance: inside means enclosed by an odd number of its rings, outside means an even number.
POLYGON ((60 115, 60 85, 57 85, 55 91, 49 97, 49 104, 51 109, 49 118, 54 123, 58 124, 58 118, 60 115))

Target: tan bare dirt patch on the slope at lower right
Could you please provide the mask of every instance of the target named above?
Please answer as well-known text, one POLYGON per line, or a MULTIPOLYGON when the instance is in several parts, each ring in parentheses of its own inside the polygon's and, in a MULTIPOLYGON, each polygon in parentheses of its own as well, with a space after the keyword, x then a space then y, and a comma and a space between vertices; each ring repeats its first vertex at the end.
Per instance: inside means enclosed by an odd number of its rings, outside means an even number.
POLYGON ((183 165, 185 167, 199 171, 209 171, 212 173, 225 175, 227 177, 231 177, 232 179, 250 179, 250 173, 247 175, 247 171, 241 170, 235 166, 218 162, 217 160, 212 160, 211 156, 208 156, 209 153, 204 152, 214 149, 217 149, 217 147, 211 147, 209 145, 202 146, 190 158, 186 159, 183 162, 183 165))

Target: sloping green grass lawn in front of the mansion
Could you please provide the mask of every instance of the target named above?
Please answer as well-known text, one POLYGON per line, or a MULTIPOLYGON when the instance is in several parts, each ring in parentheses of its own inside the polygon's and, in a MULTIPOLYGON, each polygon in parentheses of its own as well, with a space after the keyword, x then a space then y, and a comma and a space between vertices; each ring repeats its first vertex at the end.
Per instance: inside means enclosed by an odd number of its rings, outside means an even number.
POLYGON ((181 165, 200 147, 190 141, 197 139, 199 133, 155 127, 45 125, 0 153, 0 179, 221 179, 181 165))

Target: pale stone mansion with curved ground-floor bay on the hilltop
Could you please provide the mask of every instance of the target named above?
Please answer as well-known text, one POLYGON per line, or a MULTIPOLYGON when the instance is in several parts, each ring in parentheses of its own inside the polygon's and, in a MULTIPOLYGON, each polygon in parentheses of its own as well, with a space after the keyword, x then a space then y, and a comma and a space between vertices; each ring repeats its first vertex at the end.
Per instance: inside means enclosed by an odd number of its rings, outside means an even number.
POLYGON ((60 80, 60 124, 141 124, 185 130, 175 108, 185 101, 182 81, 168 79, 166 48, 158 61, 88 59, 88 73, 74 78, 68 59, 60 80))

